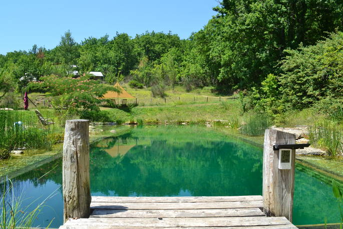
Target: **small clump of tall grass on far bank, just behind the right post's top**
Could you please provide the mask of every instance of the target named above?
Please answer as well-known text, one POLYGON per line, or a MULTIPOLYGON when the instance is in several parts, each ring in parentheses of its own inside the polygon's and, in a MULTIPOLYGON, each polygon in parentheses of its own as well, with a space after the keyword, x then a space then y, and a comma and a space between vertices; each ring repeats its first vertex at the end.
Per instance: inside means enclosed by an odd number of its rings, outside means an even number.
POLYGON ((271 121, 269 117, 261 114, 250 115, 245 119, 240 132, 248 136, 262 136, 265 129, 269 128, 271 121))

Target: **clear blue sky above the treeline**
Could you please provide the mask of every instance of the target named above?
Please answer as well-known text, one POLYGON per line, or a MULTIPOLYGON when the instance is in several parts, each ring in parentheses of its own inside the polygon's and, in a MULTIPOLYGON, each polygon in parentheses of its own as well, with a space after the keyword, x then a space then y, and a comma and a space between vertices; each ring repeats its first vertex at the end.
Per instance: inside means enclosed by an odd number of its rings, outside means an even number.
POLYGON ((131 37, 145 31, 171 31, 186 39, 203 28, 216 12, 216 0, 9 0, 0 10, 0 54, 29 50, 34 44, 52 49, 70 30, 81 42, 110 38, 116 32, 131 37))

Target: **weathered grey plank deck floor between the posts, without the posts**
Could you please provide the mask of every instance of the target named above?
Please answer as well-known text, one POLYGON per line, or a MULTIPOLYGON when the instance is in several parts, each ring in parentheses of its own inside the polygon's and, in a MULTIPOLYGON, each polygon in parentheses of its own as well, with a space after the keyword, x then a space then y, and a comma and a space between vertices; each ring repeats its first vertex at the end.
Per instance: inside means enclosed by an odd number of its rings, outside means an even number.
POLYGON ((294 229, 285 217, 266 217, 262 196, 92 196, 89 218, 69 219, 60 229, 294 229))

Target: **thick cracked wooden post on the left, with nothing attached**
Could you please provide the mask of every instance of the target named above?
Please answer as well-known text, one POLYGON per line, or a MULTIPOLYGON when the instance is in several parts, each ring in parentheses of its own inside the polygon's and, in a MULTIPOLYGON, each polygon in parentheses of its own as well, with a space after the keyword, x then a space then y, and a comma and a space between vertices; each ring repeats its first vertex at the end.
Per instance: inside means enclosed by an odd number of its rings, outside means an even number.
POLYGON ((63 144, 64 222, 90 215, 89 120, 67 120, 63 144))

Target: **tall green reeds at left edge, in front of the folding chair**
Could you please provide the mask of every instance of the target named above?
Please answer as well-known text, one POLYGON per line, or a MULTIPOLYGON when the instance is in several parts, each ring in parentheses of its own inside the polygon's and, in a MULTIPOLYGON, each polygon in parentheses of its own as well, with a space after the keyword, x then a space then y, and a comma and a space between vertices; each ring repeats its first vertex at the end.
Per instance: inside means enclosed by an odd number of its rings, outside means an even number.
MULTIPOLYGON (((30 111, 0 111, 0 149, 51 149, 54 142, 51 129, 38 126, 38 118, 30 111), (18 122, 21 122, 20 124, 18 122)), ((0 155, 3 159, 6 155, 0 155)))

